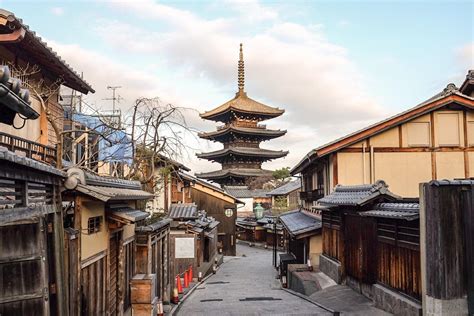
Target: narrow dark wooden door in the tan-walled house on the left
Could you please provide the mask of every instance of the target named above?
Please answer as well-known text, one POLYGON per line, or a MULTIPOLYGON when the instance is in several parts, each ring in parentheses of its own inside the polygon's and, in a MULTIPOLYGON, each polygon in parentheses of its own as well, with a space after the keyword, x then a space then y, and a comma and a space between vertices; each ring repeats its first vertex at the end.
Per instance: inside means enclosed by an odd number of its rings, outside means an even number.
POLYGON ((109 244, 109 314, 117 315, 119 304, 119 233, 112 234, 109 244))

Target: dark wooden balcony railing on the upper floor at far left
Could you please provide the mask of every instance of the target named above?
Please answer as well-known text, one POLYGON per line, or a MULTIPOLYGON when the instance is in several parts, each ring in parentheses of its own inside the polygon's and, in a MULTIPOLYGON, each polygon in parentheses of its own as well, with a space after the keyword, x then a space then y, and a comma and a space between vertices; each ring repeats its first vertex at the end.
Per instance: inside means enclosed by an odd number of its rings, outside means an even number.
POLYGON ((56 165, 56 148, 0 132, 0 146, 26 157, 56 165))

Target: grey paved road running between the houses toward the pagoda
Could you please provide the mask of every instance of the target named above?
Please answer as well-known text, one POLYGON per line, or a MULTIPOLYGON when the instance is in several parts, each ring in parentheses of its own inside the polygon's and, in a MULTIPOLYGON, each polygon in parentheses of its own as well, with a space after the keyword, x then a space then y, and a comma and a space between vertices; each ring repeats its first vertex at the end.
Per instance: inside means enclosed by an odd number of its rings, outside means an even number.
POLYGON ((226 257, 217 274, 184 301, 178 315, 330 315, 281 290, 275 275, 271 251, 237 245, 237 257, 226 257))

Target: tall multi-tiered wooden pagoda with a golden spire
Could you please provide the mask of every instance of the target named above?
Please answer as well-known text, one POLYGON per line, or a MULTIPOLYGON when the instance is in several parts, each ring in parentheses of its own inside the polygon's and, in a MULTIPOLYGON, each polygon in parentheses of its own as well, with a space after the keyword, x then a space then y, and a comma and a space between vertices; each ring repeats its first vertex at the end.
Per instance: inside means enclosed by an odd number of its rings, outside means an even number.
POLYGON ((252 178, 271 175, 272 171, 262 169, 262 163, 288 154, 288 151, 260 148, 262 141, 280 137, 286 131, 267 129, 259 123, 278 117, 285 110, 249 98, 244 91, 244 83, 244 59, 240 44, 238 91, 235 97, 211 111, 200 114, 205 120, 224 123, 218 126, 216 131, 199 133, 199 137, 222 143, 224 148, 197 154, 199 158, 220 163, 222 169, 196 176, 222 186, 246 185, 252 178))

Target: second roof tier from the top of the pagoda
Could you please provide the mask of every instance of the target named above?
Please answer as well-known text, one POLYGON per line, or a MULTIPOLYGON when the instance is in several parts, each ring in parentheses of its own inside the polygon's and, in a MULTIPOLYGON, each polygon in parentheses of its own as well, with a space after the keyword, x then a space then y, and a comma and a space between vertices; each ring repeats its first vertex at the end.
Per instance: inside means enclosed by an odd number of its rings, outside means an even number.
POLYGON ((256 139, 267 140, 285 135, 286 130, 273 130, 262 127, 241 127, 229 125, 223 128, 219 128, 217 131, 199 133, 198 135, 199 137, 204 139, 219 141, 219 139, 225 138, 230 134, 251 136, 256 139))

